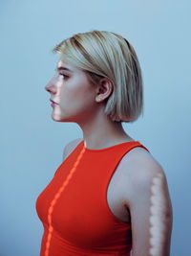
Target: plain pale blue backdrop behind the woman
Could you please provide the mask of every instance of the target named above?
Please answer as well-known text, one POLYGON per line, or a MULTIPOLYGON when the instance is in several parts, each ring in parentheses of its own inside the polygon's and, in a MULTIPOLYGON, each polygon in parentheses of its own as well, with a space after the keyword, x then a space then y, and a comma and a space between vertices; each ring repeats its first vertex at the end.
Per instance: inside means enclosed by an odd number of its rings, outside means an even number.
POLYGON ((191 230, 190 1, 7 0, 0 2, 0 256, 39 255, 35 200, 82 138, 75 123, 54 122, 44 87, 54 45, 75 33, 108 30, 134 46, 144 81, 144 115, 126 132, 159 161, 173 203, 172 256, 189 256, 191 230))

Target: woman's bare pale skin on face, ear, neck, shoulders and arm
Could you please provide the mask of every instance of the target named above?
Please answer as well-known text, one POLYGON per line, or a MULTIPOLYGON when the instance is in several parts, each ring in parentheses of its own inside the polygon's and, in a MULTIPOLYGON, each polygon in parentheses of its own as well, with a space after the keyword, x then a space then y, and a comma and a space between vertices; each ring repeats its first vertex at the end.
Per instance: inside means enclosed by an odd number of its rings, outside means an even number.
MULTIPOLYGON (((83 131, 85 147, 93 150, 134 141, 121 123, 104 112, 113 84, 102 79, 96 86, 86 74, 59 59, 55 76, 45 89, 58 105, 53 106, 56 122, 74 122, 83 131), (66 67, 71 71, 61 70, 66 67)), ((81 139, 69 143, 64 159, 81 139)), ((64 160, 63 159, 63 160, 64 160)), ((133 256, 169 256, 173 222, 172 203, 166 175, 152 154, 140 147, 126 153, 108 186, 108 206, 118 219, 131 222, 133 256)))

